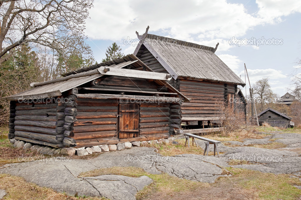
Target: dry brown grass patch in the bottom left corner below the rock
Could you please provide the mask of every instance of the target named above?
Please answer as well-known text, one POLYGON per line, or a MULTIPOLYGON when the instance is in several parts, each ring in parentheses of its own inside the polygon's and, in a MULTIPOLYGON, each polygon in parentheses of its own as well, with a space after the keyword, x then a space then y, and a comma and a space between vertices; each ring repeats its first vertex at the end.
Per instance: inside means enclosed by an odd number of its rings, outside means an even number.
POLYGON ((6 190, 4 199, 49 199, 49 200, 100 200, 104 198, 81 198, 71 197, 62 193, 57 193, 50 188, 39 187, 36 184, 28 183, 24 178, 0 174, 0 189, 6 190))

